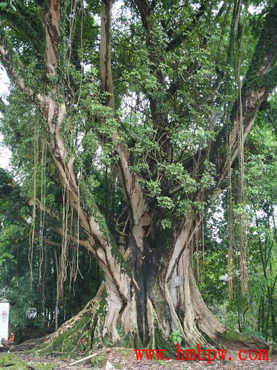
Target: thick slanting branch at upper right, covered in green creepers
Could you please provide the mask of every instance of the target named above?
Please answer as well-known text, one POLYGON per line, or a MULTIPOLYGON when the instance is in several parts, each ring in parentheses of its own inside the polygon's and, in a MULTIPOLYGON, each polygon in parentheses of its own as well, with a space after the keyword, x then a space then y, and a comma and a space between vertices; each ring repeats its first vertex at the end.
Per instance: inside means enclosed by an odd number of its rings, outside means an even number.
MULTIPOLYGON (((269 10, 265 26, 258 41, 254 56, 244 78, 242 87, 242 122, 243 138, 251 130, 259 111, 260 105, 267 99, 277 86, 277 3, 269 10)), ((231 112, 232 128, 229 134, 231 163, 238 154, 238 131, 239 131, 239 99, 237 98, 231 112)), ((226 137, 226 127, 221 131, 215 144, 214 152, 220 152, 224 146, 223 138, 226 137)), ((226 153, 226 151, 225 151, 226 153)), ((228 157, 218 154, 219 181, 218 186, 224 180, 228 170, 228 157)))

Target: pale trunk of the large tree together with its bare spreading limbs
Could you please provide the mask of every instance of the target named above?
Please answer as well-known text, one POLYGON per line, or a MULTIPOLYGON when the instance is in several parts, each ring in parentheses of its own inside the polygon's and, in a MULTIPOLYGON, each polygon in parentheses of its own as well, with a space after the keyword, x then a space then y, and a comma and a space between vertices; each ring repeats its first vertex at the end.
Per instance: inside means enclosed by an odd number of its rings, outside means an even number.
MULTIPOLYGON (((46 17, 48 75, 57 73, 58 59, 55 46, 59 43, 59 9, 54 4, 54 0, 50 1, 49 17, 46 17), (53 28, 56 29, 55 33, 52 32, 53 28)), ((58 1, 57 4, 60 5, 58 1)), ((101 2, 100 76, 102 91, 108 96, 106 105, 113 111, 115 103, 110 53, 111 4, 111 0, 102 0, 101 2)), ((147 14, 150 13, 144 12, 148 7, 146 2, 142 2, 140 5, 142 6, 142 23, 147 33, 149 31, 147 14)), ((276 12, 276 8, 274 11, 276 12)), ((275 29, 274 19, 272 14, 268 16, 270 26, 275 29)), ((255 60, 252 61, 249 69, 251 73, 248 72, 246 76, 242 96, 243 116, 239 116, 238 100, 232 109, 231 162, 236 158, 238 152, 238 122, 240 122, 240 118, 242 118, 243 140, 245 140, 261 102, 275 87, 275 85, 265 86, 266 79, 263 79, 258 86, 253 85, 253 82, 249 86, 247 85, 249 73, 251 81, 255 81, 253 75, 260 81, 261 73, 267 73, 269 76, 269 73, 276 72, 273 68, 277 59, 276 50, 268 48, 265 52, 263 49, 267 32, 265 29, 265 35, 262 35, 256 49, 256 53, 260 53, 262 50, 264 58, 260 57, 258 66, 255 60), (271 56, 270 59, 268 55, 271 56)), ((276 33, 271 34, 271 39, 276 40, 276 33)), ((51 89, 52 93, 57 92, 57 87, 54 84, 51 89)), ((84 338, 89 338, 90 346, 98 342, 110 344, 125 342, 132 347, 145 348, 148 346, 162 349, 170 346, 170 335, 174 330, 180 331, 183 345, 199 343, 201 346, 208 346, 213 343, 217 337, 224 334, 225 328, 203 302, 191 269, 193 253, 191 240, 199 226, 199 221, 195 221, 192 215, 187 215, 181 225, 175 225, 173 237, 164 237, 161 230, 163 214, 157 209, 155 200, 151 202, 145 198, 138 176, 133 174, 129 168, 129 148, 122 140, 119 140, 118 131, 115 128, 110 141, 119 157, 118 174, 130 221, 129 238, 126 241, 124 255, 122 255, 117 246, 114 245, 107 226, 99 217, 88 187, 84 181, 80 180, 78 183, 75 178, 74 159, 69 159, 61 135, 61 123, 66 115, 65 104, 57 104, 50 95, 41 99, 41 104, 46 113, 49 131, 52 134, 50 139, 52 157, 60 183, 67 191, 71 206, 78 212, 80 224, 88 236, 85 246, 93 253, 105 275, 105 289, 101 286, 95 299, 89 303, 88 307, 78 317, 69 320, 69 323, 62 326, 52 339, 52 344, 54 342, 60 343, 59 334, 61 334, 66 339, 65 346, 69 342, 68 339, 72 337, 76 343, 82 342, 84 338), (82 203, 82 199, 86 199, 86 204, 82 203), (88 320, 84 319, 86 316, 89 317, 89 324, 88 320), (81 339, 80 335, 75 337, 76 330, 72 328, 71 323, 80 327, 81 339), (70 333, 65 335, 64 332, 72 330, 74 335, 70 333), (89 335, 84 334, 86 332, 89 335)), ((155 122, 154 116, 153 113, 153 122, 155 122)), ((116 115, 114 117, 117 119, 116 115)), ((219 135, 219 140, 215 142, 212 149, 217 153, 222 146, 222 136, 219 135)), ((205 153, 203 156, 206 157, 205 153)), ((218 158, 220 159, 216 163, 219 169, 216 179, 217 187, 222 184, 229 165, 226 156, 216 155, 214 160, 218 158)), ((216 188, 210 191, 215 190, 216 188)), ((198 194, 198 196, 199 199, 200 196, 202 200, 207 199, 207 194, 198 194)), ((77 348, 76 346, 74 348, 77 348)))

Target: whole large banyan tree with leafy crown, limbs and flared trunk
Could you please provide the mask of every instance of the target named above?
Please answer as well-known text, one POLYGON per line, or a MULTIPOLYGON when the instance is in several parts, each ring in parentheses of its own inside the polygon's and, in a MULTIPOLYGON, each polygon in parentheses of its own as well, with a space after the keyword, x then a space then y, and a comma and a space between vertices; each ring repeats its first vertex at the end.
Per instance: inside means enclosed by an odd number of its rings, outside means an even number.
MULTIPOLYGON (((44 176, 61 189, 61 213, 31 201, 56 217, 60 268, 71 243, 104 276, 51 345, 66 346, 78 325, 92 342, 144 348, 164 348, 173 330, 184 345, 222 337, 193 276, 193 246, 237 160, 243 202, 244 141, 277 84, 277 3, 255 12, 242 0, 1 2, 0 60, 11 82, 3 120, 19 141, 35 132, 35 156, 50 158, 44 176), (112 208, 97 201, 101 171, 120 210, 109 222, 112 208)), ((39 227, 32 221, 31 265, 39 227)))

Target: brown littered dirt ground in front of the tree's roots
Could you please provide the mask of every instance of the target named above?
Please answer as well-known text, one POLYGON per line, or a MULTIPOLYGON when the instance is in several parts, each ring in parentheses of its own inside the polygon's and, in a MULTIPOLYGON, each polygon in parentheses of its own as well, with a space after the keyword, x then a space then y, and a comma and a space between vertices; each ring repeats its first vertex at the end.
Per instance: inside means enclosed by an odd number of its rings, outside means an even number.
MULTIPOLYGON (((163 361, 147 361, 147 359, 137 360, 136 354, 134 350, 127 350, 124 348, 106 348, 99 353, 100 360, 104 358, 107 360, 108 363, 105 365, 101 363, 101 361, 96 364, 91 362, 91 360, 87 360, 86 362, 82 362, 76 364, 74 366, 69 366, 76 360, 71 358, 61 359, 58 357, 47 356, 47 357, 34 357, 33 355, 20 352, 20 353, 13 353, 18 360, 28 364, 27 367, 24 369, 57 369, 57 370, 85 370, 85 369, 106 369, 106 370, 114 370, 114 369, 125 369, 125 370, 277 370, 277 356, 273 356, 269 358, 269 361, 251 361, 247 359, 245 361, 241 361, 238 357, 237 351, 229 350, 227 352, 227 356, 225 362, 221 361, 212 361, 211 364, 207 364, 207 361, 176 361, 176 360, 169 360, 167 361, 164 359, 163 361), (231 357, 231 360, 228 360, 231 357), (38 367, 37 367, 38 366, 38 367)), ((0 354, 1 356, 1 354, 0 354)), ((155 355, 154 355, 155 356, 155 355)), ((13 369, 22 369, 21 367, 14 367, 14 366, 0 366, 0 369, 6 370, 13 370, 13 369)))

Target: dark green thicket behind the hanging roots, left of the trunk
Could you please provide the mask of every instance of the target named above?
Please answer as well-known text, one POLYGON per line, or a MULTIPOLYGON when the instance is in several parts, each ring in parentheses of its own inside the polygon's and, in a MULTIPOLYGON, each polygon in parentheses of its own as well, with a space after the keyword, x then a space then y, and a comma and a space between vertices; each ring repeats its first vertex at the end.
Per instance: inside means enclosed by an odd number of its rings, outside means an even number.
MULTIPOLYGON (((102 277, 95 260, 84 251, 79 252, 79 271, 72 275, 67 266, 68 279, 59 296, 57 285, 61 237, 53 229, 53 221, 46 217, 43 237, 43 261, 41 240, 34 240, 32 273, 34 283, 30 288, 30 265, 28 262, 29 236, 32 207, 15 181, 1 170, 1 231, 0 231, 0 296, 11 305, 10 326, 17 342, 31 337, 44 336, 55 330, 65 320, 81 311, 91 296, 96 294, 102 277)), ((39 224, 40 212, 37 213, 39 224)), ((38 228, 37 228, 38 229, 38 228)), ((72 247, 69 260, 72 262, 72 247)), ((79 348, 78 348, 79 350, 79 348)))

